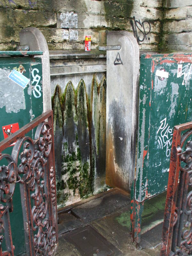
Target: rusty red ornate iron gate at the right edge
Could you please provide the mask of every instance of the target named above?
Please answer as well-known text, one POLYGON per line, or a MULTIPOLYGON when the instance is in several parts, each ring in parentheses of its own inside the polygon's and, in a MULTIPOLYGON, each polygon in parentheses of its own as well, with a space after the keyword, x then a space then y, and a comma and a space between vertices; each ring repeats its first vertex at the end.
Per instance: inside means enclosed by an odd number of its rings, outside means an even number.
POLYGON ((174 126, 161 256, 192 254, 191 134, 192 122, 174 126))

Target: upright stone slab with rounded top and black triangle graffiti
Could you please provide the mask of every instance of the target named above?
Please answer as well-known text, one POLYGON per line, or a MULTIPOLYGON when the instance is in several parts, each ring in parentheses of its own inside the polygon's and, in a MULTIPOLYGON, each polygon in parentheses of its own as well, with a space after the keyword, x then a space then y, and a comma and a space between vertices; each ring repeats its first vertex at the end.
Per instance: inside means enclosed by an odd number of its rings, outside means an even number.
POLYGON ((130 191, 138 115, 139 47, 127 31, 110 31, 107 45, 106 184, 130 191))

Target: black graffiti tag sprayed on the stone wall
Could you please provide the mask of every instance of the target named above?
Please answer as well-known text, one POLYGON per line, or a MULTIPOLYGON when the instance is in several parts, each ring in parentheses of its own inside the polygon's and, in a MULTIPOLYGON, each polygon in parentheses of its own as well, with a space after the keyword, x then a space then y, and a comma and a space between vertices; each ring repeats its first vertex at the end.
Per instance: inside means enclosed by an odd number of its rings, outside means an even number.
MULTIPOLYGON (((130 20, 130 23, 131 23, 131 26, 132 26, 134 37, 137 39, 137 43, 139 44, 139 42, 143 42, 144 40, 147 40, 147 35, 151 31, 150 22, 148 20, 144 20, 141 23, 140 20, 135 20, 135 17, 133 17, 133 20, 130 20), (134 21, 134 23, 133 23, 133 21, 134 21), (146 31, 146 27, 147 27, 146 25, 149 26, 148 31, 146 31), (142 38, 140 38, 138 33, 142 33, 142 35, 141 35, 142 38)), ((149 39, 150 38, 148 37, 148 40, 149 39)))

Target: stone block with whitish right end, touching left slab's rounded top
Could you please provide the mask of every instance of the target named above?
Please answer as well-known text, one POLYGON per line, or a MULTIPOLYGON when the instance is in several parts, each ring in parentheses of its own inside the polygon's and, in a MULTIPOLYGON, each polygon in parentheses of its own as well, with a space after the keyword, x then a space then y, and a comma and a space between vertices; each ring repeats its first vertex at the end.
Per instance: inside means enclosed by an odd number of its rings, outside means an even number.
POLYGON ((47 43, 62 43, 69 40, 69 31, 62 28, 40 28, 47 43))

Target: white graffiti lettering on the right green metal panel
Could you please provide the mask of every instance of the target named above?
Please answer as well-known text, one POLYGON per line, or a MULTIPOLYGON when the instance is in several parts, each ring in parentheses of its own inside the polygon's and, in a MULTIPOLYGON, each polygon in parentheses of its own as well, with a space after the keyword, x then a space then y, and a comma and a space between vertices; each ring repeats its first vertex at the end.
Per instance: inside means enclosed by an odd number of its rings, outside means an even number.
POLYGON ((158 137, 158 143, 160 149, 163 149, 166 147, 166 156, 170 156, 171 154, 171 148, 170 146, 172 145, 172 130, 168 124, 166 124, 167 118, 165 117, 161 122, 159 129, 157 131, 157 134, 159 131, 161 131, 160 136, 158 137), (167 127, 168 126, 168 127, 167 127))

